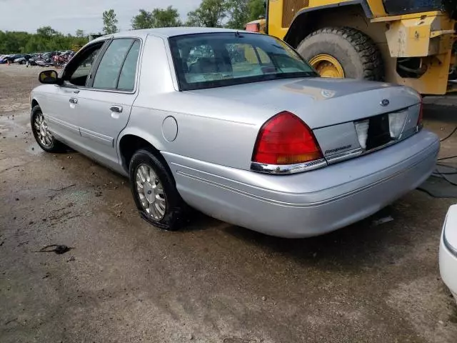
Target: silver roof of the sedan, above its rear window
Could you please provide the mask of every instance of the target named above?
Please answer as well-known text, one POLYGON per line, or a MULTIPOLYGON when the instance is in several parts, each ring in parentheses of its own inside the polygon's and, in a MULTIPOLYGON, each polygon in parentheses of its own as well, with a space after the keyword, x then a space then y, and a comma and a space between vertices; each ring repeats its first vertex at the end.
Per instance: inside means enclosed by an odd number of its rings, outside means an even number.
MULTIPOLYGON (((146 38, 146 36, 159 36, 162 38, 169 38, 173 36, 182 36, 184 34, 210 34, 210 33, 221 33, 221 32, 247 32, 243 30, 233 30, 233 29, 218 29, 214 27, 161 27, 158 29, 142 29, 142 30, 131 30, 123 31, 117 34, 107 34, 106 36, 101 36, 94 41, 103 41, 108 38, 121 38, 121 37, 131 37, 136 36, 140 38, 146 38)), ((250 34, 252 32, 249 32, 250 34)))

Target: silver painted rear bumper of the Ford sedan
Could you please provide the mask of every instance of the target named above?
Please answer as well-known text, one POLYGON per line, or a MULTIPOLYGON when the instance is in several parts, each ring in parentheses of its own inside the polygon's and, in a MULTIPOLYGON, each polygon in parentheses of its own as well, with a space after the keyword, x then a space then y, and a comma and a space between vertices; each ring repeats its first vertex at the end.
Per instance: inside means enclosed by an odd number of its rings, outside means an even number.
POLYGON ((439 140, 421 131, 373 154, 278 176, 164 152, 181 197, 211 217, 278 237, 312 237, 358 222, 433 172, 439 140))

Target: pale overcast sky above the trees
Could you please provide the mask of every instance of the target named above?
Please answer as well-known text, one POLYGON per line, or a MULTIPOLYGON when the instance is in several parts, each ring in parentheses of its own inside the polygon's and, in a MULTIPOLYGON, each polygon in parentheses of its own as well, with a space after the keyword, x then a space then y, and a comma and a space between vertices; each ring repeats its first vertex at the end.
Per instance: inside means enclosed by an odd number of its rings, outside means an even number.
POLYGON ((118 27, 131 29, 131 18, 139 9, 174 6, 185 19, 201 0, 0 0, 0 30, 35 32, 41 26, 52 26, 64 34, 77 29, 86 34, 103 31, 103 11, 114 9, 118 27))

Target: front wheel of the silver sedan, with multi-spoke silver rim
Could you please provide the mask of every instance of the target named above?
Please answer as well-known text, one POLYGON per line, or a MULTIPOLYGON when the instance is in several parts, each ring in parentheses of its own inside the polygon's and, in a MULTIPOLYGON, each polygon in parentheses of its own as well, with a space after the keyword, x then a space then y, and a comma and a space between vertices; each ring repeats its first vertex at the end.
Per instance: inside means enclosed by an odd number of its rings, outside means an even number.
POLYGON ((39 105, 34 106, 31 110, 31 131, 34 134, 36 142, 41 149, 46 152, 58 153, 65 152, 66 146, 54 138, 48 129, 46 118, 39 105))

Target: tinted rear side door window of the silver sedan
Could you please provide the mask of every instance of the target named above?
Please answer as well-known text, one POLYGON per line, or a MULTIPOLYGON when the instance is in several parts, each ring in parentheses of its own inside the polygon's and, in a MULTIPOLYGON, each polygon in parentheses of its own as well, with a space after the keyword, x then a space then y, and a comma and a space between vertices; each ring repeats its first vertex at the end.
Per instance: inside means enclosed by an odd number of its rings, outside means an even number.
MULTIPOLYGON (((134 39, 114 39, 111 42, 104 56, 101 58, 97 68, 93 87, 97 89, 117 89, 121 71, 124 69, 124 61, 129 55, 136 40, 134 39)), ((136 56, 138 58, 138 56, 136 56)), ((123 83, 129 78, 129 71, 124 72, 123 83)))

